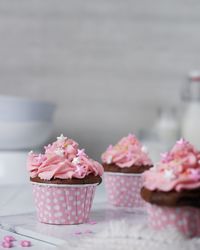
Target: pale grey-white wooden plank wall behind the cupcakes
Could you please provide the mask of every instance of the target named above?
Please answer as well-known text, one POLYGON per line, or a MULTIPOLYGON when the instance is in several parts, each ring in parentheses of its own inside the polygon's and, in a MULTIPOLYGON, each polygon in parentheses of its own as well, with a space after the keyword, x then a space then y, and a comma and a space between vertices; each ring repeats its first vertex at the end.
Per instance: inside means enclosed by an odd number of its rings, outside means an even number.
POLYGON ((97 158, 179 104, 199 55, 199 0, 0 0, 0 94, 57 103, 54 135, 97 158))

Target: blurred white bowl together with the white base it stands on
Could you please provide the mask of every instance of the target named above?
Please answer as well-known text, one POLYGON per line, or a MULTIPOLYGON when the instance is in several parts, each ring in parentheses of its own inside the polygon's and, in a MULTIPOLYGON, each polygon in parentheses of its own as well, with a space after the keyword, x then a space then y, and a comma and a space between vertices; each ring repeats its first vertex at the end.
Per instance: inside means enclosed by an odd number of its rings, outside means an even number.
POLYGON ((0 185, 28 181, 26 157, 51 136, 53 103, 0 96, 0 185))

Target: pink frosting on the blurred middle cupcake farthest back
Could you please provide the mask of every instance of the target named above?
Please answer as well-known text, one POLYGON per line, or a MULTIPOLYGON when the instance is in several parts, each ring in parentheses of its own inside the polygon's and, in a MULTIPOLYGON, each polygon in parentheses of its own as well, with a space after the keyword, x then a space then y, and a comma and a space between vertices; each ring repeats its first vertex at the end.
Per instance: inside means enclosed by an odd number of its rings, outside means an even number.
POLYGON ((132 134, 123 137, 115 146, 110 145, 101 158, 103 163, 114 163, 121 168, 132 165, 152 165, 146 148, 132 134))

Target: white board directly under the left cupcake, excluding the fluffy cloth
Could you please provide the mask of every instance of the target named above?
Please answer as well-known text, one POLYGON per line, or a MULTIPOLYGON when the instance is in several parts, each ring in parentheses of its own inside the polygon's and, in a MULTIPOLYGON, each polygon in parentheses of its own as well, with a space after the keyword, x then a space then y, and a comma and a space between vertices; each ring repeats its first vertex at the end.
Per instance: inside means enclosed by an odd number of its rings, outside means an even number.
MULTIPOLYGON (((1 216, 0 226, 19 235, 34 238, 51 247, 62 246, 68 241, 77 241, 78 238, 93 237, 104 231, 109 223, 115 221, 134 221, 135 225, 146 221, 144 210, 123 210, 113 208, 105 202, 96 202, 90 214, 90 222, 81 225, 49 225, 37 222, 35 213, 1 216), (89 232, 89 233, 88 233, 89 232)), ((39 243, 38 243, 39 244, 39 243)), ((44 245, 44 244, 43 244, 44 245)))

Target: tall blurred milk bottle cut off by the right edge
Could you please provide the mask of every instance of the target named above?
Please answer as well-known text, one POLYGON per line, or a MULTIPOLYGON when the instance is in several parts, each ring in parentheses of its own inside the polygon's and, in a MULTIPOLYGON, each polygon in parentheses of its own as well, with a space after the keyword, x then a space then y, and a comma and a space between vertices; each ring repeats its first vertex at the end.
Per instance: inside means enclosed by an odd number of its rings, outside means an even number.
POLYGON ((182 137, 200 149, 200 71, 190 73, 182 97, 185 103, 182 137))

